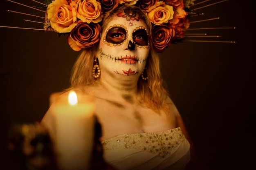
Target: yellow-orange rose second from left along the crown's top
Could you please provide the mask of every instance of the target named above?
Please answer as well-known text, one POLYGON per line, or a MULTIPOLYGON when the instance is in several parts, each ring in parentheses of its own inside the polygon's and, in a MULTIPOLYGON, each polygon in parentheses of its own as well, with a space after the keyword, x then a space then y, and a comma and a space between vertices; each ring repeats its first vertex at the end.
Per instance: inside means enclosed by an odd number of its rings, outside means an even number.
POLYGON ((90 24, 90 22, 98 23, 102 20, 101 4, 96 0, 78 0, 76 9, 76 17, 83 22, 90 24))

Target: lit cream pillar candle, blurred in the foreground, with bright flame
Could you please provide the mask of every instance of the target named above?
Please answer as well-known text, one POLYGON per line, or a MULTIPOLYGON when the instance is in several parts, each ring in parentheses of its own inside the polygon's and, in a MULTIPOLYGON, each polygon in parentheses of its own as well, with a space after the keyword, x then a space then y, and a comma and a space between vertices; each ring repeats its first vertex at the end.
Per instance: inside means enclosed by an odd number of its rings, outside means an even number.
POLYGON ((70 91, 68 100, 63 101, 62 97, 54 103, 59 170, 88 169, 94 142, 94 109, 88 96, 80 96, 77 100, 74 91, 70 91))

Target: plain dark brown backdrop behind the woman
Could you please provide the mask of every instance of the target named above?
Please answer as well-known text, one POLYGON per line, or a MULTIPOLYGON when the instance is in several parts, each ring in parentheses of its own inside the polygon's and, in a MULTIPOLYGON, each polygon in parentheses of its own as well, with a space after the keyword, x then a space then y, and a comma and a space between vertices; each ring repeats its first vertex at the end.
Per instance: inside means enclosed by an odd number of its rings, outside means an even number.
MULTIPOLYGON (((205 13, 202 18, 220 20, 191 24, 191 28, 236 26, 235 30, 214 30, 214 35, 222 35, 221 40, 236 44, 183 42, 161 54, 168 90, 209 170, 251 169, 255 158, 255 14, 252 5, 245 3, 229 0, 200 9, 205 13)), ((24 24, 22 19, 30 17, 5 12, 29 11, 25 7, 1 0, 0 9, 0 25, 41 26, 24 24)), ((49 95, 69 86, 79 52, 69 47, 65 36, 53 32, 0 28, 0 35, 0 166, 9 169, 7 130, 13 123, 43 118, 49 95)))

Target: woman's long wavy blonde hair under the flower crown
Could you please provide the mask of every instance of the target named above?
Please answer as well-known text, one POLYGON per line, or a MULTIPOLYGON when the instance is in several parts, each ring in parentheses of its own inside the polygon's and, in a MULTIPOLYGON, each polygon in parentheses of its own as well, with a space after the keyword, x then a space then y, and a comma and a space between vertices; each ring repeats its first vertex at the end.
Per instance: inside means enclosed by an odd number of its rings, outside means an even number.
MULTIPOLYGON (((137 7, 126 5, 121 5, 106 13, 101 26, 102 30, 105 29, 108 22, 115 16, 114 14, 127 8, 139 14, 140 19, 148 26, 148 33, 151 33, 151 23, 144 12, 137 7)), ((98 46, 85 48, 81 52, 72 69, 72 76, 70 78, 71 88, 79 88, 83 91, 83 87, 86 85, 92 85, 97 82, 98 79, 92 76, 94 58, 97 55, 97 51, 98 46)), ((140 77, 137 84, 138 93, 141 96, 142 101, 144 101, 148 108, 156 112, 159 112, 159 110, 162 109, 166 113, 169 113, 170 107, 165 102, 168 92, 164 87, 164 82, 161 76, 159 56, 153 49, 152 42, 150 42, 150 52, 145 69, 147 70, 148 80, 145 81, 140 77)))

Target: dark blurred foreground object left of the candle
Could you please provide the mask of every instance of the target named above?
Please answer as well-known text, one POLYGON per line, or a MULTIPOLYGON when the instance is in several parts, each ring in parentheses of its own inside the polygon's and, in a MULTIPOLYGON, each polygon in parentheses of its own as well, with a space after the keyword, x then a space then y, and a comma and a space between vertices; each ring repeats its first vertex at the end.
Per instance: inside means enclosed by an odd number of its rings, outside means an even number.
POLYGON ((16 123, 8 133, 10 166, 20 170, 56 170, 53 146, 45 127, 36 123, 16 123))

